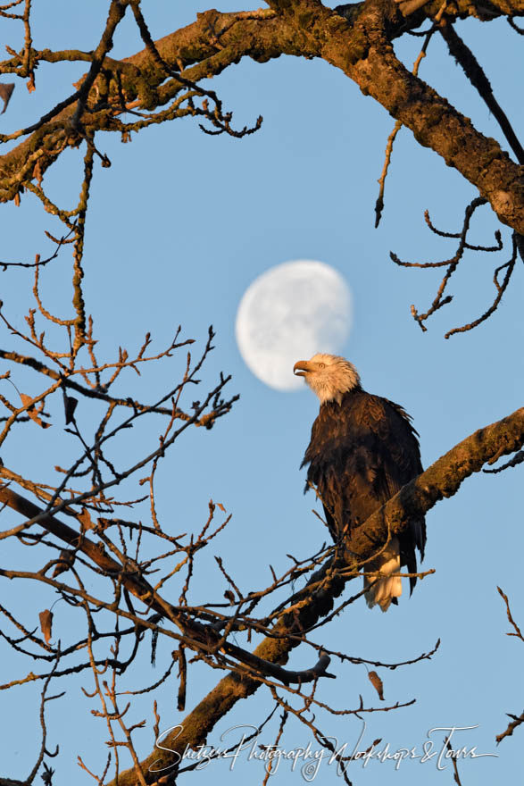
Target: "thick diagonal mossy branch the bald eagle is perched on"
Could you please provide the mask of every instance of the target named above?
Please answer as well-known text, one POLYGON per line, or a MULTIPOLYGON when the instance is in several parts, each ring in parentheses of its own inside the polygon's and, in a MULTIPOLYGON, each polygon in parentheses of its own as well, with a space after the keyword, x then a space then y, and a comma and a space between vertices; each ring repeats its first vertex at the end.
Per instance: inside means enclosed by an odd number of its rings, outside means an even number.
MULTIPOLYGON (((463 439, 445 456, 432 464, 426 472, 390 499, 377 513, 370 516, 353 533, 347 543, 348 563, 354 564, 367 559, 375 553, 377 544, 383 543, 389 533, 397 533, 408 525, 413 516, 420 517, 444 497, 453 497, 462 481, 473 472, 479 472, 483 464, 494 456, 503 456, 518 450, 524 444, 524 407, 499 422, 475 431, 463 439)), ((273 636, 267 637, 255 649, 254 654, 266 662, 286 663, 289 652, 300 642, 300 633, 307 631, 318 619, 329 613, 336 598, 349 579, 341 576, 338 566, 331 560, 315 573, 304 588, 302 600, 294 603, 293 613, 283 616, 275 626, 273 636), (319 579, 321 590, 312 590, 319 579)), ((296 596, 295 596, 296 597, 296 596)), ((212 731, 213 726, 226 715, 238 699, 247 698, 254 693, 261 682, 250 677, 230 673, 186 716, 177 726, 176 732, 166 736, 162 748, 154 750, 142 762, 146 782, 152 783, 161 775, 173 773, 175 757, 170 751, 181 754, 187 746, 195 747, 202 743, 212 731), (154 767, 155 773, 149 771, 154 767), (166 767, 163 772, 159 772, 166 767)), ((119 786, 131 786, 136 782, 136 773, 128 770, 119 775, 119 786)), ((113 783, 112 786, 115 786, 113 783)))

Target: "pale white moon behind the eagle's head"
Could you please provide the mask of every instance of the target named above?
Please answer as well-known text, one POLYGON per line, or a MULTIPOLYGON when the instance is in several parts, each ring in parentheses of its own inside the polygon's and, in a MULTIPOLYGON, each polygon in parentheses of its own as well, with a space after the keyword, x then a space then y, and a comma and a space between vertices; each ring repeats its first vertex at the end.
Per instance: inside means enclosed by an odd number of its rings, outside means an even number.
POLYGON ((351 324, 351 293, 329 264, 296 260, 270 268, 245 290, 237 311, 237 345, 259 380, 277 390, 304 386, 297 360, 337 353, 351 324))

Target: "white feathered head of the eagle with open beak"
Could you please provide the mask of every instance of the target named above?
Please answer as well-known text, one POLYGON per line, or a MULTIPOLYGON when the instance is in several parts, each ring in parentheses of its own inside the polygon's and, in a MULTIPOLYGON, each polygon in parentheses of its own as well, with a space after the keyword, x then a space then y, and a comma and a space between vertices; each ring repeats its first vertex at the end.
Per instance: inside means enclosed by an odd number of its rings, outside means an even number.
POLYGON ((344 394, 361 383, 353 364, 340 355, 318 353, 311 360, 299 360, 293 366, 293 373, 304 377, 313 393, 320 398, 320 404, 333 400, 340 404, 344 394))

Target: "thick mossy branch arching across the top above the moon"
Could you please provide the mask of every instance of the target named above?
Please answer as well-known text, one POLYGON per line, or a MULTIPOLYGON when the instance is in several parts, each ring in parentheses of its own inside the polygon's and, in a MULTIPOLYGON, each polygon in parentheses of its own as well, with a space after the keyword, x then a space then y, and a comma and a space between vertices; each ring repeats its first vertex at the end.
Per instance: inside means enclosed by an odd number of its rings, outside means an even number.
MULTIPOLYGON (((318 0, 274 0, 272 5, 273 10, 265 14, 199 14, 192 25, 155 42, 156 50, 164 63, 171 69, 183 68, 183 78, 193 82, 219 74, 244 56, 261 63, 280 54, 321 57, 411 129, 421 145, 431 147, 460 171, 489 200, 501 222, 524 234, 521 167, 494 139, 480 134, 445 98, 407 71, 391 46, 406 26, 420 24, 425 16, 433 18, 441 5, 439 0, 428 2, 408 20, 393 0, 368 0, 356 4, 350 15, 352 24, 318 0)), ((522 0, 488 5, 490 17, 524 13, 522 0)), ((486 8, 487 0, 482 4, 462 0, 446 10, 445 18, 453 21, 467 14, 486 18, 486 8)), ((105 58, 104 70, 114 81, 120 80, 126 102, 149 111, 171 101, 184 88, 175 77, 164 84, 165 70, 147 48, 121 62, 105 58)), ((96 83, 91 94, 95 90, 96 83)), ((116 116, 121 108, 114 100, 109 109, 97 109, 93 95, 87 107, 90 113, 82 116, 87 130, 121 129, 116 116)), ((73 107, 67 106, 0 157, 0 200, 15 197, 24 181, 31 179, 37 162, 44 172, 65 146, 79 144, 78 134, 71 133, 73 113, 73 107)))

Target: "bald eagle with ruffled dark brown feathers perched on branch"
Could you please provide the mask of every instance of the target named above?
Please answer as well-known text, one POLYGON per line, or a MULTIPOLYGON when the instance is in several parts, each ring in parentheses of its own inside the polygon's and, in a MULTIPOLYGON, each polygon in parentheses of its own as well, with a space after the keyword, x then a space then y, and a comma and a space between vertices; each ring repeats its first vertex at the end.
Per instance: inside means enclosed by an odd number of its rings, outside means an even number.
MULTIPOLYGON (((418 433, 402 406, 362 389, 358 372, 344 357, 313 355, 295 363, 293 371, 320 398, 301 464, 301 469, 309 465, 304 492, 316 489, 337 542, 422 472, 418 433)), ((364 578, 368 606, 378 604, 387 611, 397 603, 402 579, 395 573, 403 565, 416 573, 415 548, 423 559, 425 544, 426 523, 420 518, 364 565, 367 572, 387 574, 364 578)), ((416 581, 410 577, 411 592, 416 581)))

